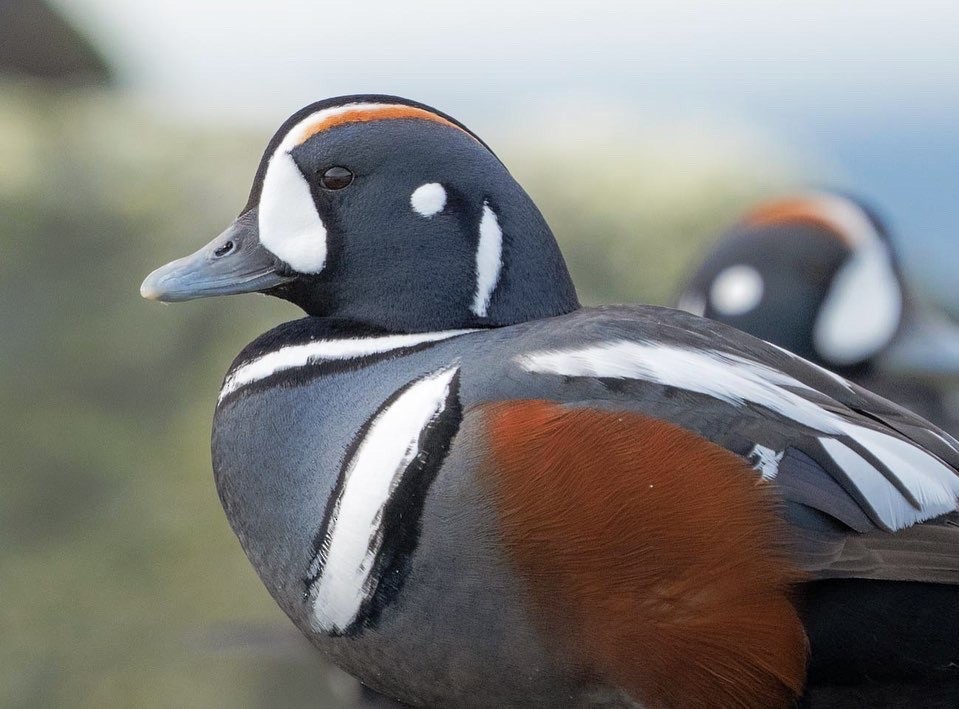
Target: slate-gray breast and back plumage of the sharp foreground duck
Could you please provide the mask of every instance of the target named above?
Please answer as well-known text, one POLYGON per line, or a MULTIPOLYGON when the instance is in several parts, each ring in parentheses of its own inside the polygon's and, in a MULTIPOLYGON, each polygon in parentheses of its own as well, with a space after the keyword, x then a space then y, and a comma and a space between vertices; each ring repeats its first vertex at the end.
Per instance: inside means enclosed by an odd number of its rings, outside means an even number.
MULTIPOLYGON (((313 319, 311 326, 311 337, 322 338, 324 322, 313 319)), ((779 420, 769 411, 734 410, 707 396, 647 382, 531 374, 515 359, 532 351, 623 338, 708 344, 762 358, 813 386, 822 393, 822 401, 836 409, 847 404, 870 410, 872 416, 885 416, 900 428, 919 423, 894 405, 846 388, 822 370, 731 328, 643 306, 583 310, 465 334, 354 371, 311 376, 310 367, 305 367, 276 375, 221 403, 214 422, 213 459, 230 523, 277 603, 338 665, 405 702, 444 706, 615 702, 614 690, 578 678, 552 656, 526 614, 521 600, 525 591, 504 558, 495 510, 477 479, 484 456, 477 405, 538 398, 640 411, 698 431, 740 454, 757 438, 779 441, 782 447, 808 447, 795 422, 779 420), (355 637, 318 633, 311 625, 304 578, 345 451, 384 400, 410 381, 450 365, 460 367, 464 418, 429 491, 409 578, 375 627, 355 637)), ((244 361, 244 355, 237 359, 244 361)), ((852 409, 845 415, 877 425, 852 409)), ((816 455, 812 450, 810 454, 816 455)), ((826 568, 848 536, 837 531, 844 526, 837 520, 862 526, 862 531, 875 526, 835 482, 835 490, 826 487, 830 476, 824 469, 813 474, 822 484, 812 493, 804 486, 794 489, 795 478, 788 469, 777 478, 789 501, 787 517, 797 532, 795 552, 813 571, 818 566, 825 569, 825 576, 843 575, 826 568)), ((959 570, 956 576, 959 581, 959 570)))

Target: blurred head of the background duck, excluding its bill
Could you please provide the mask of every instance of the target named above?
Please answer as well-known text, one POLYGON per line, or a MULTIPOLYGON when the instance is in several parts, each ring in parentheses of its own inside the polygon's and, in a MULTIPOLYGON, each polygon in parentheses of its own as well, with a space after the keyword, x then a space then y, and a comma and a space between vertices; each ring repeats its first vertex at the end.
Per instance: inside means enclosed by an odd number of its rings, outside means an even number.
POLYGON ((813 193, 750 212, 690 279, 679 307, 851 373, 896 336, 904 290, 872 210, 813 193))

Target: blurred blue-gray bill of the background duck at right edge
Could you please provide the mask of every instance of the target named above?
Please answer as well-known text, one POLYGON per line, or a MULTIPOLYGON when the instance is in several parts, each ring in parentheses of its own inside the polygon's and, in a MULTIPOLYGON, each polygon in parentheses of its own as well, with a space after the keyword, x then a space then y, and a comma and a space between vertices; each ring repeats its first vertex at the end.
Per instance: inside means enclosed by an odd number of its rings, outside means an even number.
POLYGON ((959 382, 959 325, 941 313, 920 311, 906 321, 879 365, 890 374, 959 382))

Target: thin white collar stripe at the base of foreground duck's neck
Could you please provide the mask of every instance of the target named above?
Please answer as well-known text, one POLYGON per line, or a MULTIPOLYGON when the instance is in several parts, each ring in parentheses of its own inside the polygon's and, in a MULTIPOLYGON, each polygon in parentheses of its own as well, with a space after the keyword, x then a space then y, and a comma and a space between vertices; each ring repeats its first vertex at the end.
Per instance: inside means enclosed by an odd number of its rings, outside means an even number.
POLYGON ((351 337, 288 345, 237 367, 223 383, 223 387, 220 389, 220 401, 241 387, 266 379, 287 369, 305 367, 328 360, 357 359, 403 347, 438 342, 468 332, 473 332, 473 330, 439 330, 437 332, 417 332, 408 335, 386 335, 383 337, 351 337))

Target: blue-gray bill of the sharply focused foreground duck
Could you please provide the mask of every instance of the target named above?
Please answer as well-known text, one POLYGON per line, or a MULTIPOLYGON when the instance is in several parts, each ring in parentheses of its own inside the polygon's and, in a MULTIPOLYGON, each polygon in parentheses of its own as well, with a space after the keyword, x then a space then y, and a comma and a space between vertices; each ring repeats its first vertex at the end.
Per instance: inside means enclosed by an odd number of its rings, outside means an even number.
POLYGON ((161 266, 143 281, 140 295, 167 303, 270 290, 290 280, 280 261, 260 244, 256 210, 189 256, 161 266))

